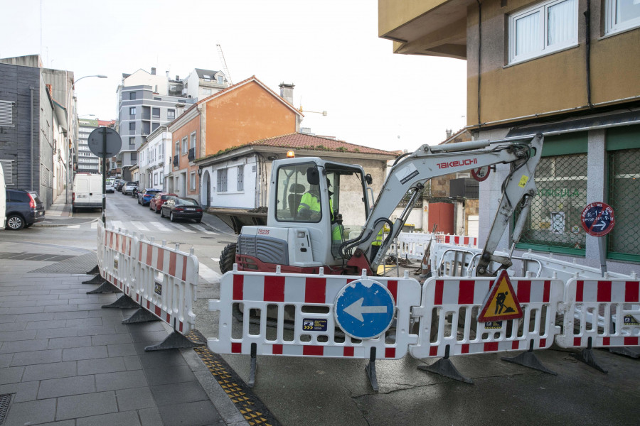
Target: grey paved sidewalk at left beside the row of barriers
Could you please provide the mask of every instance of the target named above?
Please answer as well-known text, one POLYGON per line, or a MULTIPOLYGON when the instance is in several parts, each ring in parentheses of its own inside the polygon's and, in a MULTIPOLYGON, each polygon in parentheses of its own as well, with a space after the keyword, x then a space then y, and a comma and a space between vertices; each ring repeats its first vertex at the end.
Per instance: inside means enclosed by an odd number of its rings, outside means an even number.
POLYGON ((164 323, 124 325, 134 310, 102 308, 121 294, 87 295, 90 275, 30 272, 52 262, 7 253, 78 250, 0 241, 3 426, 247 424, 193 349, 144 351, 164 323))

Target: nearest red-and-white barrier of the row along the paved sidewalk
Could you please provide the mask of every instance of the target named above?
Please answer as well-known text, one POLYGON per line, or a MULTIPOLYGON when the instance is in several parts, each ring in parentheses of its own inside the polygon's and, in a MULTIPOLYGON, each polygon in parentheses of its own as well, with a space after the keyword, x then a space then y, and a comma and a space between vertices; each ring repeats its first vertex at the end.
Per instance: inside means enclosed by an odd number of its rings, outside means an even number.
POLYGON ((180 334, 195 329, 198 258, 151 241, 139 241, 137 258, 132 298, 180 334))

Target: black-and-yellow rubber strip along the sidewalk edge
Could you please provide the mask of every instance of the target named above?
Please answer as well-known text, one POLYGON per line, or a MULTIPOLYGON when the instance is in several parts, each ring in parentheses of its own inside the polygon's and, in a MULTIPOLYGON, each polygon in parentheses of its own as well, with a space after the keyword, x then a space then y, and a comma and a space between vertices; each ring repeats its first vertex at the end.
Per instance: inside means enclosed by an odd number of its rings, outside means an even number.
MULTIPOLYGON (((202 334, 197 331, 187 334, 186 337, 192 342, 206 342, 202 334)), ((246 383, 220 356, 209 351, 206 346, 193 350, 200 356, 215 380, 220 383, 231 402, 235 404, 250 426, 279 426, 280 423, 267 410, 262 401, 253 394, 246 383)), ((247 362, 249 362, 248 358, 247 362)))

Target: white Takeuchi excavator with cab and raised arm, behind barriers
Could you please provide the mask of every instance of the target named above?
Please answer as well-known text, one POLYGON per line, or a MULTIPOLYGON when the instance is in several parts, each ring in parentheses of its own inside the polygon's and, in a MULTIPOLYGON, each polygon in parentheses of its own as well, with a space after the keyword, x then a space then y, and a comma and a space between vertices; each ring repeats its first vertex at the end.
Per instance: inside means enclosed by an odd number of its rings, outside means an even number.
MULTIPOLYGON (((280 266, 283 273, 318 273, 321 267, 326 274, 375 273, 427 180, 507 163, 510 172, 502 184, 501 202, 476 268, 476 275, 492 275, 497 271, 489 271, 490 265, 498 264, 498 269, 511 266, 508 257, 494 252, 516 207, 519 217, 511 240, 520 238, 536 193, 534 172, 542 146, 542 134, 421 146, 395 160, 375 203, 368 186, 371 177, 359 165, 314 157, 275 160, 266 224, 240 226, 241 221, 235 219, 238 242, 225 247, 220 271, 228 272, 237 263, 239 271, 274 272, 280 266), (389 218, 407 193, 407 207, 392 222, 389 218), (380 241, 385 225, 390 231, 380 241)), ((260 222, 254 219, 253 223, 260 222)))

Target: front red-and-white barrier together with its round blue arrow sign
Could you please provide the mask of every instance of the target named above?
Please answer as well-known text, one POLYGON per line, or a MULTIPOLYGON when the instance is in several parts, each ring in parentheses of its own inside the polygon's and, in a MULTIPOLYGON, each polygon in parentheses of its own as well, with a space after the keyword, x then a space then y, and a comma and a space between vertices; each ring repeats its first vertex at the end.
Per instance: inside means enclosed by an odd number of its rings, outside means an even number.
POLYGON ((208 346, 218 354, 252 354, 255 344, 254 355, 361 359, 370 358, 375 348, 377 359, 400 359, 409 344, 417 343, 410 333, 410 310, 418 300, 420 283, 408 275, 234 270, 220 281, 220 300, 209 300, 209 310, 220 317, 218 338, 208 339, 208 346))

